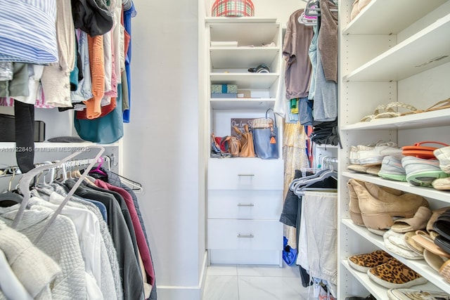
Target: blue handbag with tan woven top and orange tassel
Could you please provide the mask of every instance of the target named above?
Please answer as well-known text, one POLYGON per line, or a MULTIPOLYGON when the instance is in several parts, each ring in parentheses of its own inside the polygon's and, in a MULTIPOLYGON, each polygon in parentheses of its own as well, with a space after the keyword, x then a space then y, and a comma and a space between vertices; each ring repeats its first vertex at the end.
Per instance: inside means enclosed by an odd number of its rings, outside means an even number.
MULTIPOLYGON (((274 113, 274 110, 269 108, 274 113)), ((269 110, 266 110, 265 118, 252 119, 253 144, 255 154, 261 159, 278 159, 278 127, 276 117, 267 117, 269 110)))

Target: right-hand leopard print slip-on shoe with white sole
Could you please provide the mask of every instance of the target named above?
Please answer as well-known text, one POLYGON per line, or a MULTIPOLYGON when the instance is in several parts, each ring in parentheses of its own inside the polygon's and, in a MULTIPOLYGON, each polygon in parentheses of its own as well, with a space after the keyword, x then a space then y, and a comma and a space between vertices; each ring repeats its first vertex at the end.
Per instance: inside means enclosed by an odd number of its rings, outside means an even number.
POLYGON ((390 259, 386 263, 367 271, 368 278, 388 289, 404 289, 428 282, 420 274, 411 270, 397 259, 390 259))

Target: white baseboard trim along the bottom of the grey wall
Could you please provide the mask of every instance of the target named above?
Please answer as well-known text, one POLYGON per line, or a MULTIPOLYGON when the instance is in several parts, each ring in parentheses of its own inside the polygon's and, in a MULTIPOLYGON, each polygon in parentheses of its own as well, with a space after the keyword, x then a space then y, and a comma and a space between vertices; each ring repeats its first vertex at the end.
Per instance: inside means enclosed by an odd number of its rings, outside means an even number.
POLYGON ((183 287, 179 285, 158 285, 157 293, 158 299, 165 300, 200 300, 203 296, 203 289, 205 289, 206 270, 208 266, 208 254, 205 251, 203 256, 203 266, 198 278, 198 285, 192 287, 183 287))

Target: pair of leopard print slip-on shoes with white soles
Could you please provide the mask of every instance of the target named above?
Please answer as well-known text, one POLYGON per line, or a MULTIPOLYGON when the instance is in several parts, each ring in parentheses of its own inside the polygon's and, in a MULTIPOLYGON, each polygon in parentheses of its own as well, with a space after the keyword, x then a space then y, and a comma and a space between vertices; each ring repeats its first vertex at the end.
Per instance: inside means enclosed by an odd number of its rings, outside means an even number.
POLYGON ((428 282, 384 250, 349 256, 347 261, 349 266, 366 272, 373 282, 388 289, 408 288, 428 282))

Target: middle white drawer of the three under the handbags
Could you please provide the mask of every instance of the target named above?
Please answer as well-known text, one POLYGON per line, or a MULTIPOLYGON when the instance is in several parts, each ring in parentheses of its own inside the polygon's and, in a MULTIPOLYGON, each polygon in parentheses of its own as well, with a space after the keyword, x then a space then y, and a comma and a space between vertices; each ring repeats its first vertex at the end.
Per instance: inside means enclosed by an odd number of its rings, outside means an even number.
POLYGON ((283 190, 209 190, 208 219, 279 220, 283 190))

